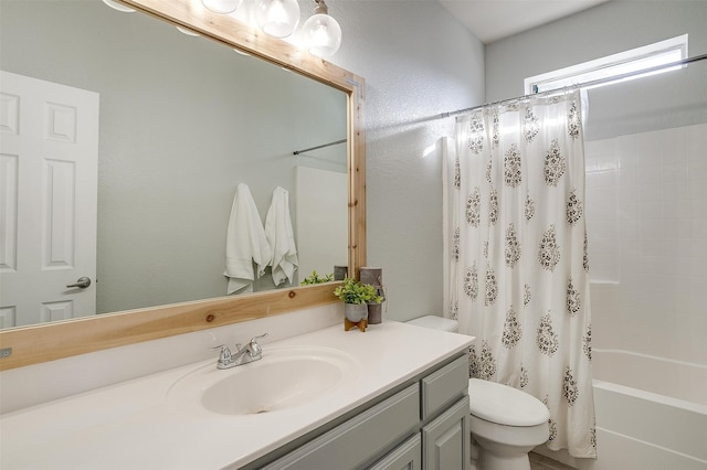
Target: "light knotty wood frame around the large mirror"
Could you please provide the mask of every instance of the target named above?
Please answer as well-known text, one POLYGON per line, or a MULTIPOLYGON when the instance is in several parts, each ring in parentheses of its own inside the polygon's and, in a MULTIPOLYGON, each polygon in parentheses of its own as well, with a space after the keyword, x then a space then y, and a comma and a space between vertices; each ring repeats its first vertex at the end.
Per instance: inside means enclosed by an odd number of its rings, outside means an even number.
MULTIPOLYGON (((348 265, 350 273, 358 275, 366 263, 363 79, 230 15, 213 13, 200 0, 123 3, 346 94, 348 265)), ((316 307, 337 301, 333 290, 331 284, 276 289, 4 330, 0 332, 0 348, 9 354, 0 359, 0 370, 316 307)))

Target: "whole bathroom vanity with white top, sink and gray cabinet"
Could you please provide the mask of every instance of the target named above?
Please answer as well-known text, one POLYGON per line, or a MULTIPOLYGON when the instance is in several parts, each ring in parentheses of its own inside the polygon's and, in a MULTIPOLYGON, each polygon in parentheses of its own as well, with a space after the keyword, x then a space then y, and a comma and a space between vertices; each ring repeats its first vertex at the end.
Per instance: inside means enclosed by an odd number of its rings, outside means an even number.
POLYGON ((2 415, 0 468, 466 468, 473 338, 340 324, 2 415), (422 463, 422 464, 420 464, 422 463))

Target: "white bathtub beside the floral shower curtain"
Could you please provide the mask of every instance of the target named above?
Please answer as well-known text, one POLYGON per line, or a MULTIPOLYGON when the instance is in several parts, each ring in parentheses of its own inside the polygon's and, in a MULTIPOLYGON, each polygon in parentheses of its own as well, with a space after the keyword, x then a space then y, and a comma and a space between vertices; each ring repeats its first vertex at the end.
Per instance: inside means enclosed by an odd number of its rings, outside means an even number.
POLYGON ((707 470, 707 367, 592 350, 597 460, 537 451, 581 470, 707 470))

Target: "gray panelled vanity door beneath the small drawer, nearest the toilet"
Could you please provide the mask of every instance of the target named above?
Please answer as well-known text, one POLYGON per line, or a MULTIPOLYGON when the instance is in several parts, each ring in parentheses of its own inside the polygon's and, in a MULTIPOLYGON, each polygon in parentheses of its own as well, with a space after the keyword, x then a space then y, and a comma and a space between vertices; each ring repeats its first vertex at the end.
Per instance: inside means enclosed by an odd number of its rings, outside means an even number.
POLYGON ((468 396, 422 428, 425 470, 468 470, 471 467, 468 396))

